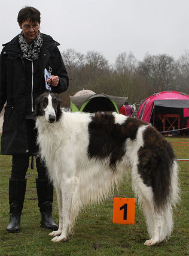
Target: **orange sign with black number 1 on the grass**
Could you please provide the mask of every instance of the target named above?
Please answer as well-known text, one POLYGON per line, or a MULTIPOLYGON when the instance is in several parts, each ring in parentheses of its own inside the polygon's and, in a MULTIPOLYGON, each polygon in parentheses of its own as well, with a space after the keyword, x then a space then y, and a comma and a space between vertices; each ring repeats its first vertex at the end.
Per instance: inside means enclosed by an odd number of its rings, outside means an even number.
POLYGON ((113 223, 135 224, 135 198, 114 197, 113 223))

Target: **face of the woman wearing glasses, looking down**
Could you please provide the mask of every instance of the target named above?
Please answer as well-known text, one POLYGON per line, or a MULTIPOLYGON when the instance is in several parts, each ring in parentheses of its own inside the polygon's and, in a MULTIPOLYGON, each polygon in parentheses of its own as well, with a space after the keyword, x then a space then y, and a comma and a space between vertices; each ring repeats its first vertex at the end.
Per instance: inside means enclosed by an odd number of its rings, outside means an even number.
POLYGON ((33 40, 38 36, 39 32, 39 23, 38 22, 31 22, 29 19, 19 24, 20 28, 23 30, 23 34, 25 39, 28 41, 29 44, 33 42, 33 40))

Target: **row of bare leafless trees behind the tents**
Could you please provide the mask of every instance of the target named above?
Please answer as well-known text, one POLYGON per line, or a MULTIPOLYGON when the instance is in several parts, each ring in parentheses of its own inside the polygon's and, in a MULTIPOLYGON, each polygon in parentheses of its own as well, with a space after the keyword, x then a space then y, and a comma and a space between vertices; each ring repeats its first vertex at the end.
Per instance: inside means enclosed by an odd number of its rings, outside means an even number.
POLYGON ((86 55, 68 49, 62 52, 68 71, 69 89, 63 94, 69 107, 69 95, 83 89, 96 94, 128 97, 129 103, 140 104, 150 95, 161 91, 179 91, 188 94, 189 51, 178 59, 166 54, 146 54, 138 61, 132 52, 120 53, 114 65, 109 65, 99 52, 86 55))

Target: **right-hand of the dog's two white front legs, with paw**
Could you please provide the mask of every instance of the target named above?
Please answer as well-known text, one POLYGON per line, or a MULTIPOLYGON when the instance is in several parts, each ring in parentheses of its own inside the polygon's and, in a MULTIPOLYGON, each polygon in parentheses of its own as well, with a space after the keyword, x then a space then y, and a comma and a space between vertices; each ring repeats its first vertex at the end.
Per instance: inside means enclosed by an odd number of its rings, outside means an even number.
MULTIPOLYGON (((60 218, 60 225, 62 225, 62 230, 60 228, 59 233, 54 233, 53 235, 56 235, 53 239, 51 239, 52 242, 61 242, 65 241, 68 236, 68 227, 70 224, 70 207, 71 207, 71 190, 72 190, 72 180, 66 179, 65 182, 61 184, 61 192, 62 192, 62 216, 59 216, 60 218), (60 233, 61 231, 61 233, 60 233), (60 236, 59 236, 60 235, 60 236)), ((60 203, 59 203, 60 205, 60 203)), ((61 207, 61 205, 60 205, 61 207)), ((61 209, 59 209, 59 212, 61 213, 61 209)))

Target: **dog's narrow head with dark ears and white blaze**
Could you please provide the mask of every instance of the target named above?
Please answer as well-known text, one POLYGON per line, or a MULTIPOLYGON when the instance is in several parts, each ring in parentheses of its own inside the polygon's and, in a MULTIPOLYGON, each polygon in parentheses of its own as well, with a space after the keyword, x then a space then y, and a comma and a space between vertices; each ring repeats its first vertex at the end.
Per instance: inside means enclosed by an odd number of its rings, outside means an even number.
POLYGON ((48 92, 41 94, 35 101, 36 118, 44 116, 47 122, 58 122, 62 115, 61 104, 62 101, 57 94, 48 92))

